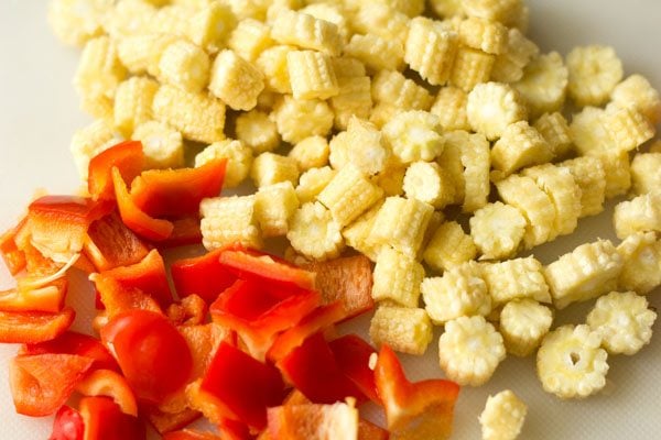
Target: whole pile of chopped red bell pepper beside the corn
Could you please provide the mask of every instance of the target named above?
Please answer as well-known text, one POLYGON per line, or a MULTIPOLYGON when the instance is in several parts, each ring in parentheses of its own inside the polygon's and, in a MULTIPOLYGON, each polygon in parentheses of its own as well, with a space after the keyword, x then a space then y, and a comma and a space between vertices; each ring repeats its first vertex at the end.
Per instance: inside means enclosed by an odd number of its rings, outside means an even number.
POLYGON ((184 429, 201 416, 223 439, 449 436, 456 384, 412 384, 388 346, 334 332, 373 307, 369 260, 296 267, 234 245, 166 267, 163 249, 201 242, 199 201, 220 193, 226 162, 143 166, 139 142, 118 144, 91 160, 87 197, 39 198, 0 238, 19 414, 55 415, 53 440, 144 439, 144 420, 167 440, 218 439, 184 429), (71 267, 96 287, 100 339, 69 330, 71 267), (359 419, 367 402, 388 430, 359 419))

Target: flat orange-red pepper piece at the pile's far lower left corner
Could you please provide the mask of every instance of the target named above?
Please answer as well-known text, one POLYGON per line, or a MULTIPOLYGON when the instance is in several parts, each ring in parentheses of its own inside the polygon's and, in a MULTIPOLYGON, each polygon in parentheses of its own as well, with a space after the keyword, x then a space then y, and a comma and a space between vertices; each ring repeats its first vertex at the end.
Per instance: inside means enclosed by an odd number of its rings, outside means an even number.
POLYGON ((9 364, 9 384, 17 413, 55 414, 94 361, 76 354, 17 356, 9 364))

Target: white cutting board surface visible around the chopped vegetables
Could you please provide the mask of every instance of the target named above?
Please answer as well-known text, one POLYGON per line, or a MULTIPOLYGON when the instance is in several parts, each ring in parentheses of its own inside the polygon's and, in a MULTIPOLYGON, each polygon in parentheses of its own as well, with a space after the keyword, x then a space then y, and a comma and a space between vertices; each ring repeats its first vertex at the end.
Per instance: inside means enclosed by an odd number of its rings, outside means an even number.
MULTIPOLYGON (((661 89, 661 2, 658 0, 532 0, 532 35, 542 50, 563 55, 578 44, 610 44, 627 74, 641 73, 661 89)), ((72 191, 77 185, 68 143, 88 118, 77 109, 71 86, 78 52, 65 48, 50 33, 46 1, 0 1, 0 229, 12 224, 34 189, 72 191)), ((576 235, 546 245, 535 255, 550 262, 559 253, 596 237, 610 238, 608 216, 582 221, 576 235)), ((0 265, 1 266, 1 265, 0 265)), ((9 278, 0 268, 0 288, 9 278)), ((661 309, 659 293, 650 296, 661 309)), ((89 307, 89 306, 88 306, 89 307)), ((570 308, 563 322, 579 322, 587 306, 570 308)), ((77 321, 78 328, 85 323, 77 321)), ((361 319, 354 326, 367 326, 361 319)), ((659 331, 659 324, 655 326, 659 331)), ((407 358, 413 378, 440 376, 437 339, 424 360, 407 358)), ((45 439, 50 419, 14 414, 7 383, 13 346, 0 346, 1 439, 45 439)), ((492 381, 479 389, 464 388, 457 405, 456 439, 478 439, 477 416, 489 393, 511 388, 529 404, 522 439, 653 439, 661 432, 661 337, 633 358, 609 360, 607 393, 584 402, 561 402, 541 391, 534 360, 508 359, 492 381)))

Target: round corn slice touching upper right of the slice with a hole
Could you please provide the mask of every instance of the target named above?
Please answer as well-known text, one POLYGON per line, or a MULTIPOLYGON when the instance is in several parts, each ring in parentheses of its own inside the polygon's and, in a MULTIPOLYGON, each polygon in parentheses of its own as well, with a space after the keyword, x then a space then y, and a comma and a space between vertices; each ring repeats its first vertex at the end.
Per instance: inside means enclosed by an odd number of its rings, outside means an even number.
POLYGON ((609 354, 632 355, 652 339, 657 312, 643 296, 633 292, 611 292, 597 299, 585 322, 602 336, 609 354))

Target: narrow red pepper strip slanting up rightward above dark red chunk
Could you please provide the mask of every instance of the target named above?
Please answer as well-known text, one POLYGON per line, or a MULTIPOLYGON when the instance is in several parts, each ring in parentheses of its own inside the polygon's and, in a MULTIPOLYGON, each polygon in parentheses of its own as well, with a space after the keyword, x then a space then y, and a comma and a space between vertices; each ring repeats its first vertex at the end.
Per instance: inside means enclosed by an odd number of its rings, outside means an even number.
POLYGON ((308 337, 340 321, 345 316, 345 309, 340 301, 317 308, 303 318, 295 327, 281 333, 273 342, 273 345, 271 345, 271 349, 269 349, 267 359, 272 362, 280 361, 291 353, 292 350, 301 346, 303 341, 308 337))

